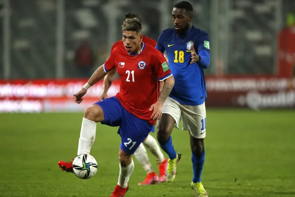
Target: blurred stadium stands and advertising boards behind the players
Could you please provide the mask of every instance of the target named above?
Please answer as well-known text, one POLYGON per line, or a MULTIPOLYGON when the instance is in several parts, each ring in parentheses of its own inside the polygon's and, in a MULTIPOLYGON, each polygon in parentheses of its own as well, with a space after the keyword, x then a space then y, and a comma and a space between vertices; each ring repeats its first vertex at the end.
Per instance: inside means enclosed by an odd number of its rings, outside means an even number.
MULTIPOLYGON (((121 38, 125 13, 137 12, 144 34, 157 40, 162 30, 173 27, 171 9, 177 1, 0 2, 0 111, 50 112, 85 108, 67 99, 72 101, 71 95, 104 63, 112 44, 121 38), (82 49, 77 52, 78 48, 82 49)), ((284 90, 295 60, 294 1, 191 2, 193 24, 209 32, 212 43, 206 70, 207 106, 292 107, 294 92, 284 90)), ((101 85, 91 88, 90 102, 100 91, 101 85)), ((110 96, 117 91, 115 83, 110 96)))

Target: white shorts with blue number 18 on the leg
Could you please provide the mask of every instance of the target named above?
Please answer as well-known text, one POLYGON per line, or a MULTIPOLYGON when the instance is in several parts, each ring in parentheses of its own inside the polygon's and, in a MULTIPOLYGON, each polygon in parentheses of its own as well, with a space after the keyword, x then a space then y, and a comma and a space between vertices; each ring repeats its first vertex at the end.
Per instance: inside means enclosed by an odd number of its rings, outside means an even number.
POLYGON ((206 137, 206 108, 201 105, 182 105, 168 97, 163 105, 162 113, 171 115, 175 120, 174 127, 179 128, 182 117, 182 130, 189 131, 194 138, 206 137))

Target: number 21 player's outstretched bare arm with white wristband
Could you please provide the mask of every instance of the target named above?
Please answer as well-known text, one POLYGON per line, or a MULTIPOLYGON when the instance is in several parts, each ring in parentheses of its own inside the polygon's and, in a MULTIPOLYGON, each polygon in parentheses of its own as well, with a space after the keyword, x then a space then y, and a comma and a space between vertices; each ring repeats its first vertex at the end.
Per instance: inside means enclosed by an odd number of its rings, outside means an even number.
POLYGON ((104 71, 104 66, 99 66, 98 69, 92 74, 88 82, 82 87, 82 89, 74 94, 75 102, 80 104, 82 102, 82 97, 86 94, 87 89, 89 89, 91 86, 93 86, 96 82, 101 80, 104 76, 106 76, 106 72, 104 71))

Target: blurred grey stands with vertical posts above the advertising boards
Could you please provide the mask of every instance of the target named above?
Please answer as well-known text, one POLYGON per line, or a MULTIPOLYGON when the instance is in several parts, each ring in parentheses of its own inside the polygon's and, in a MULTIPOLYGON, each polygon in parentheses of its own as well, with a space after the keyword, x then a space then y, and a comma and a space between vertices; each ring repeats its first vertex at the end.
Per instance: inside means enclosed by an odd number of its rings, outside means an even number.
MULTIPOLYGON (((0 0, 0 77, 78 77, 74 50, 88 40, 104 63, 121 38, 126 12, 143 20, 143 33, 157 40, 173 27, 172 0, 0 0)), ((275 73, 276 40, 289 0, 191 0, 193 25, 209 32, 214 74, 275 73)), ((95 68, 93 68, 95 69, 95 68)))

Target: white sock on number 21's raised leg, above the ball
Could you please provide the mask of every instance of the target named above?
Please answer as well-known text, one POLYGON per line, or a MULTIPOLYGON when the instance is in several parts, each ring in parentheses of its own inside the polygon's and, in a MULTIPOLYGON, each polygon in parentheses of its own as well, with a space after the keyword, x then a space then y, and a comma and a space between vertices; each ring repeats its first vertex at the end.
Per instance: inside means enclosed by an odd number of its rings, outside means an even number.
POLYGON ((91 146, 95 140, 95 134, 96 122, 83 118, 78 145, 78 155, 90 153, 91 146))

